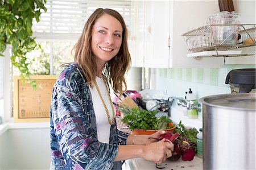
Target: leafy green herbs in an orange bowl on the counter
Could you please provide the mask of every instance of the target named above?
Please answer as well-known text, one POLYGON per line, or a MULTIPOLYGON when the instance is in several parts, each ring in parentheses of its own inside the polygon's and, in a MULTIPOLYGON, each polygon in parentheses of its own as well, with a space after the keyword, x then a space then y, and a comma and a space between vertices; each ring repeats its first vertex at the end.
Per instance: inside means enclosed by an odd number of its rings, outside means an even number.
POLYGON ((139 107, 119 105, 118 111, 123 113, 121 121, 130 128, 132 134, 154 134, 160 129, 173 132, 175 129, 174 123, 168 117, 156 118, 156 110, 147 111, 139 107))

